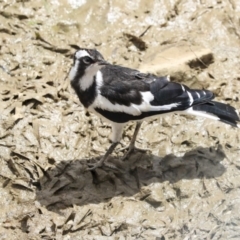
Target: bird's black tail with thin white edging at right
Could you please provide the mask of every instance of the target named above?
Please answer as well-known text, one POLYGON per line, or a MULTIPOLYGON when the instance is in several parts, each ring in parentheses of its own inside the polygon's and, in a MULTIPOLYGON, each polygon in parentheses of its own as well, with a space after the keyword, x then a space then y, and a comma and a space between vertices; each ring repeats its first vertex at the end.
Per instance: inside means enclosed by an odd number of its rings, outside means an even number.
POLYGON ((206 112, 219 118, 219 121, 230 124, 234 127, 239 127, 240 122, 237 110, 224 103, 210 101, 208 103, 195 105, 192 107, 195 111, 206 112))

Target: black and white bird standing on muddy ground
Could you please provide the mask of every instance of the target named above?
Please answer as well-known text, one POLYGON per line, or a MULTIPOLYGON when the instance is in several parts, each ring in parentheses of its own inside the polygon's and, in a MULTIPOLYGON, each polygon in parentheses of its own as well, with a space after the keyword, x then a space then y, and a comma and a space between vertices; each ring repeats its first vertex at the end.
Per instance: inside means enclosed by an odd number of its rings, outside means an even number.
POLYGON ((104 164, 120 142, 123 128, 129 121, 136 121, 136 128, 127 155, 135 148, 142 121, 150 117, 177 112, 239 127, 237 110, 230 105, 212 101, 212 92, 190 89, 169 81, 168 77, 112 65, 95 49, 81 48, 76 51, 69 78, 83 106, 112 125, 111 146, 89 170, 104 164))

